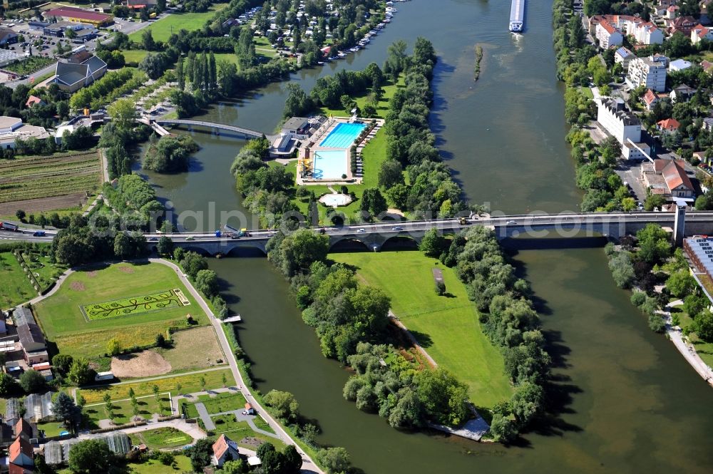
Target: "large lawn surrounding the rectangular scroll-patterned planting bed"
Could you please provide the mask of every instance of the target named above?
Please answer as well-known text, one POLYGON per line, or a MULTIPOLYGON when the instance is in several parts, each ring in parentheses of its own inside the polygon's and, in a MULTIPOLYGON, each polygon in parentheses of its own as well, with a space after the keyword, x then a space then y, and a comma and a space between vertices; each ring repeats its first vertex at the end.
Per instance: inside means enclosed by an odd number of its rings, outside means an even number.
POLYGON ((150 344, 158 332, 169 325, 185 325, 190 314, 198 325, 207 324, 200 309, 175 271, 163 264, 113 264, 98 270, 82 270, 71 274, 51 297, 35 306, 47 338, 59 351, 73 356, 101 356, 106 343, 116 337, 125 347, 150 344), (125 314, 88 321, 81 306, 136 297, 178 288, 190 302, 189 306, 160 309, 141 314, 125 314))

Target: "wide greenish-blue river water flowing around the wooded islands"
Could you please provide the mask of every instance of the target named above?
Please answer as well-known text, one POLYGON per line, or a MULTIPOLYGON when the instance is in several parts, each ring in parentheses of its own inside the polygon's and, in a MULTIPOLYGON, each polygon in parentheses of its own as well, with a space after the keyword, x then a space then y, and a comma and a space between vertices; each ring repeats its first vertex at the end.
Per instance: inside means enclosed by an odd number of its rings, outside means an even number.
MULTIPOLYGON (((431 126, 471 202, 510 213, 576 210, 580 193, 564 141, 551 2, 527 2, 522 36, 507 31, 507 0, 396 6, 394 21, 365 51, 301 71, 294 81, 309 91, 320 75, 381 64, 391 42, 413 44, 425 36, 439 60, 431 126), (485 57, 474 83, 476 43, 485 57)), ((272 84, 216 105, 205 118, 270 132, 281 118, 284 92, 284 83, 272 84)), ((204 213, 186 227, 213 230, 225 223, 220 212, 242 210, 228 168, 244 142, 193 136, 202 148, 190 172, 149 176, 176 210, 204 213)), ((713 389, 673 344, 647 328, 627 292, 613 284, 600 246, 597 239, 511 244, 533 285, 555 360, 548 423, 511 448, 401 433, 357 411, 342 398, 348 374, 322 357, 287 283, 265 258, 211 259, 210 267, 231 309, 243 316, 240 342, 260 389, 294 393, 304 416, 319 422, 319 441, 347 448, 366 473, 713 472, 713 389)))

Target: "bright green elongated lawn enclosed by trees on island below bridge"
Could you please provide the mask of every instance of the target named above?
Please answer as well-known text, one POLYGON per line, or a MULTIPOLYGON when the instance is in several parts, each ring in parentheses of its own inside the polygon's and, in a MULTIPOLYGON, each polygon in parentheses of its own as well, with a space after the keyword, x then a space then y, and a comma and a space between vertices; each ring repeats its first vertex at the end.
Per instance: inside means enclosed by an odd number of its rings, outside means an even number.
POLYGON ((510 398, 503 358, 483 331, 478 312, 453 269, 421 252, 330 254, 337 262, 358 267, 359 275, 391 297, 391 309, 436 360, 468 383, 477 406, 491 407, 510 398), (443 271, 448 296, 434 291, 431 269, 443 271))

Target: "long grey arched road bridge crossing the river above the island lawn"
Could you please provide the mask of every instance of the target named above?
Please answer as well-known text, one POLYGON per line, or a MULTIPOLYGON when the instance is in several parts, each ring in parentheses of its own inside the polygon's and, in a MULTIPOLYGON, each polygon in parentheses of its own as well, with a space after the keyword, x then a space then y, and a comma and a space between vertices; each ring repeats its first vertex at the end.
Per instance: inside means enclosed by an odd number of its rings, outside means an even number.
MULTIPOLYGON (((547 237, 553 233, 561 238, 602 235, 618 239, 623 235, 635 234, 649 223, 670 227, 673 238, 681 244, 684 236, 713 235, 713 212, 584 212, 561 214, 530 214, 502 216, 470 216, 465 224, 458 219, 413 220, 375 222, 371 224, 344 225, 342 227, 315 227, 315 232, 324 229, 329 236, 330 246, 339 242, 360 242, 364 247, 378 252, 389 239, 409 238, 421 242, 427 230, 438 229, 442 234, 454 234, 473 226, 492 228, 498 239, 506 237, 547 237)), ((53 231, 46 231, 45 237, 33 237, 33 230, 23 232, 0 232, 0 239, 47 242, 53 231)), ((193 249, 207 254, 228 254, 235 249, 260 249, 266 252, 267 242, 275 230, 250 231, 249 237, 215 237, 215 232, 188 232, 168 234, 175 246, 193 249)), ((148 247, 153 248, 160 236, 145 234, 148 247)))

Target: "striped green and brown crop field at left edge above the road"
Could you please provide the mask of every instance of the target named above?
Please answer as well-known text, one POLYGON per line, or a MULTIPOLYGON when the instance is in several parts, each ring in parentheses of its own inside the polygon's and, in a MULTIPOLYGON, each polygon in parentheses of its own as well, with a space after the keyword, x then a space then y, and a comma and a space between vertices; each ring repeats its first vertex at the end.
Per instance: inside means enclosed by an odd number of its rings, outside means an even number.
POLYGON ((0 203, 93 192, 99 185, 96 151, 0 160, 0 203))

